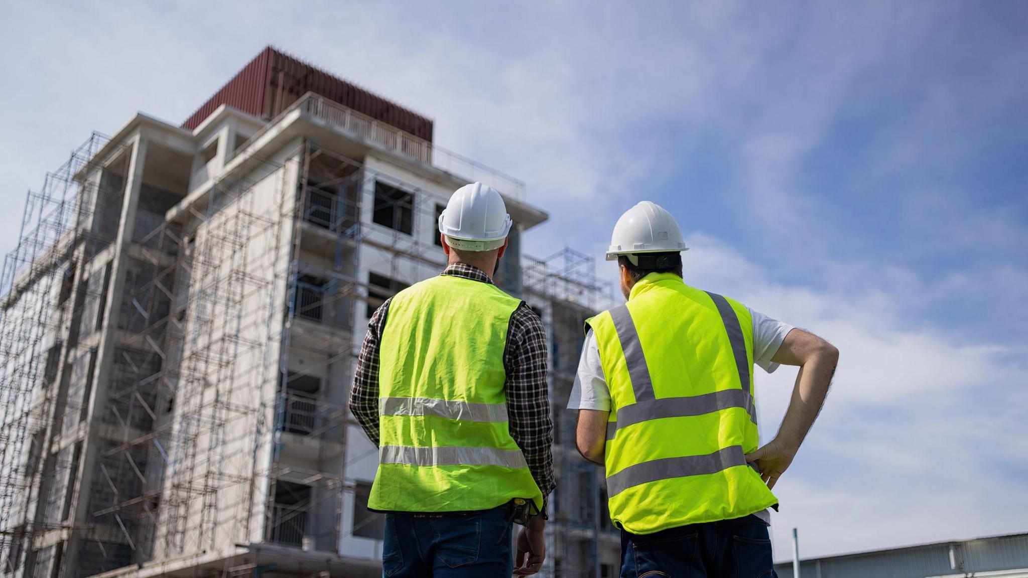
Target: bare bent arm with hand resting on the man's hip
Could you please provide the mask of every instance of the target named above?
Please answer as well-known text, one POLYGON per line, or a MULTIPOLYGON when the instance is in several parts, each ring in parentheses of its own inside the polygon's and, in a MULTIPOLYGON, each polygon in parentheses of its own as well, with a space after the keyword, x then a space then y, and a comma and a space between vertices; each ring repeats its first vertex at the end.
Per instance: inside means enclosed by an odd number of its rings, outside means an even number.
POLYGON ((793 463, 800 444, 814 425, 839 362, 839 350, 813 333, 793 329, 771 360, 784 365, 799 365, 800 371, 796 375, 793 397, 778 434, 746 456, 747 462, 757 462, 757 469, 768 487, 774 487, 793 463))

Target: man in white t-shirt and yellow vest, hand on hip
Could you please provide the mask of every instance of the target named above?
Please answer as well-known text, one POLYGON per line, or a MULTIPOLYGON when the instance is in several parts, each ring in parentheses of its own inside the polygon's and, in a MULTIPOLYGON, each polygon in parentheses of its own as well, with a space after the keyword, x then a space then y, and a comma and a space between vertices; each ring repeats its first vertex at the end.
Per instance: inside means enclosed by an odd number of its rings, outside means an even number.
POLYGON ((572 390, 579 451, 604 466, 621 576, 772 576, 768 508, 824 401, 839 352, 690 287, 674 217, 645 201, 607 252, 627 302, 586 321, 572 390), (759 443, 754 365, 800 371, 778 434, 759 443))

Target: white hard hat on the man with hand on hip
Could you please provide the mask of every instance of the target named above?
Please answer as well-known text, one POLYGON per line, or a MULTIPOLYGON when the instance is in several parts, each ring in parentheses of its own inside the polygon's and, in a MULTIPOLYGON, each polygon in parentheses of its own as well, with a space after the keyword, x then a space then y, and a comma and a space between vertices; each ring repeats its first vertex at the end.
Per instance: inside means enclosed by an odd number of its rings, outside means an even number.
POLYGON ((613 261, 618 255, 688 250, 674 217, 660 205, 644 201, 625 211, 614 225, 607 260, 613 261))

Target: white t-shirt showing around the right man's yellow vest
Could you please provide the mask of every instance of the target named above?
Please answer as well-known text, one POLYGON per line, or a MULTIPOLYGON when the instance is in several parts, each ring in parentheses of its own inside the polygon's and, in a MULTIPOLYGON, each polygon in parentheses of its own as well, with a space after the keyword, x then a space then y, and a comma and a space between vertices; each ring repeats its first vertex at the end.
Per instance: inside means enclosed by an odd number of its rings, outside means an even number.
MULTIPOLYGON (((785 335, 794 327, 749 308, 746 309, 754 321, 754 363, 771 373, 778 368, 778 364, 772 362, 771 358, 778 353, 785 335)), ((579 358, 579 368, 575 374, 567 408, 611 410, 611 390, 607 387, 603 366, 599 361, 599 346, 592 334, 592 329, 586 333, 585 344, 582 346, 582 357, 579 358)), ((757 512, 757 515, 764 521, 770 522, 767 510, 757 512)))

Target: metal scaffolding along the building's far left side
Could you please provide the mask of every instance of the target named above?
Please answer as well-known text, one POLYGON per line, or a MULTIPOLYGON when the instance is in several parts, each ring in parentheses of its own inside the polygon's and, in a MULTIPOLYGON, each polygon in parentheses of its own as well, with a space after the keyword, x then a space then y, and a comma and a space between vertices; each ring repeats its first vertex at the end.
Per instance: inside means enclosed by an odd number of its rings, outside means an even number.
MULTIPOLYGON (((86 170, 107 138, 94 133, 30 190, 19 242, 4 259, 0 277, 0 572, 27 557, 33 536, 61 528, 64 504, 54 489, 74 466, 70 453, 47 448, 54 425, 79 410, 83 392, 67 392, 58 380, 65 358, 61 328, 77 331, 76 303, 93 297, 75 288, 82 255, 95 255, 113 238, 107 217, 119 205, 110 182, 74 179, 86 170), (35 513, 38 510, 38 513, 35 513)), ((115 148, 115 153, 119 152, 115 148)), ((66 333, 68 334, 68 333, 66 333)))

